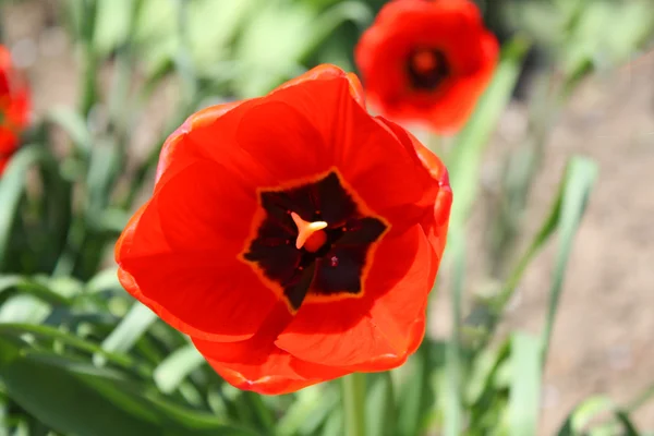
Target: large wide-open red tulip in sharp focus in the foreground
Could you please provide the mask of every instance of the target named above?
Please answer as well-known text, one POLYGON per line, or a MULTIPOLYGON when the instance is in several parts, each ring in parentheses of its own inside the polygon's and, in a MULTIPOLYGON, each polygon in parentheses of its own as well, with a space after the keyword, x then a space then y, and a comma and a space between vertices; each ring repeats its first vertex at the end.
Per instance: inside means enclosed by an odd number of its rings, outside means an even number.
POLYGON ((450 204, 440 160, 322 65, 168 138, 119 278, 232 385, 291 392, 416 350, 450 204))

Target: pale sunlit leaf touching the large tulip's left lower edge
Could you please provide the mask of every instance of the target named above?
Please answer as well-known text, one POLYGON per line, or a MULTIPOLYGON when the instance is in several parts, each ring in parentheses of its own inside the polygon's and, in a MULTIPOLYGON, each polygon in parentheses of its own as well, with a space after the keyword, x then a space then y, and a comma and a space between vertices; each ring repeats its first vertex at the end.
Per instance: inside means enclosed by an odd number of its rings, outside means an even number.
MULTIPOLYGON (((157 315, 153 311, 135 302, 125 317, 102 341, 102 350, 107 352, 129 351, 155 320, 157 320, 157 315)), ((96 365, 105 363, 102 354, 94 355, 93 360, 96 365)))

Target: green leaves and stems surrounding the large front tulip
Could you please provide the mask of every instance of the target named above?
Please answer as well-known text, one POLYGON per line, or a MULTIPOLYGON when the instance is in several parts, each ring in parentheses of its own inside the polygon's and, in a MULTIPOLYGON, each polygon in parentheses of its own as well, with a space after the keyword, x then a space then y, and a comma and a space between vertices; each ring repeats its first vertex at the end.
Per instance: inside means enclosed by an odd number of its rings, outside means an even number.
MULTIPOLYGON (((147 192, 165 137, 213 101, 264 94, 320 62, 353 70, 352 49, 384 1, 62 0, 78 55, 75 108, 51 108, 0 179, 0 435, 342 435, 343 392, 328 383, 263 397, 227 385, 187 339, 121 289, 110 261, 116 238, 147 192), (111 81, 100 86, 99 72, 111 81), (169 119, 144 158, 134 132, 154 94, 172 84, 169 119), (70 145, 55 157, 53 131, 70 145)), ((541 378, 566 265, 597 177, 571 157, 535 234, 521 217, 556 113, 579 81, 623 62, 654 28, 649 0, 485 0, 506 39, 496 76, 465 129, 441 153, 456 203, 443 275, 450 280, 452 334, 426 338, 396 371, 365 382, 365 434, 413 436, 536 434, 541 378), (530 48, 555 84, 532 105, 524 145, 506 156, 500 207, 487 253, 495 292, 470 292, 468 218, 479 195, 485 147, 523 72, 530 48), (519 238, 531 240, 517 252, 519 238), (543 334, 497 324, 533 258, 557 244, 543 334)), ((569 271, 573 272, 573 271, 569 271)), ((434 292, 434 295, 437 295, 434 292)), ((644 435, 631 403, 591 398, 559 435, 644 435), (603 413, 604 420, 597 421, 603 413)), ((352 435, 354 436, 354 435, 352 435)), ((362 436, 362 435, 356 435, 362 436)))

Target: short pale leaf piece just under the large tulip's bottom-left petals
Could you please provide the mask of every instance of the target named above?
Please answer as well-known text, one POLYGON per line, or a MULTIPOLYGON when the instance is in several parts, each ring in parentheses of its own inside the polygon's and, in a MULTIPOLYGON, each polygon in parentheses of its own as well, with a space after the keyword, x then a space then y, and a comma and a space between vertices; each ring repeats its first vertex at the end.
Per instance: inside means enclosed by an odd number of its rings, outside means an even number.
POLYGON ((166 358, 153 375, 157 387, 164 393, 174 391, 178 386, 197 367, 206 363, 197 349, 189 343, 166 358))

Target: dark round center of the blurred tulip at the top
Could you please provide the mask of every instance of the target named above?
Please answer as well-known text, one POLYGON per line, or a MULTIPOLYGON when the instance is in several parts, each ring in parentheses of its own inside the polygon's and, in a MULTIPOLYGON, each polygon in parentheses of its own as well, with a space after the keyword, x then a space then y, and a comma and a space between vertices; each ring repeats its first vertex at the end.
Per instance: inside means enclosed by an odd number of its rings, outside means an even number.
POLYGON ((434 90, 450 75, 450 68, 443 51, 421 48, 409 53, 407 74, 412 88, 434 90))

